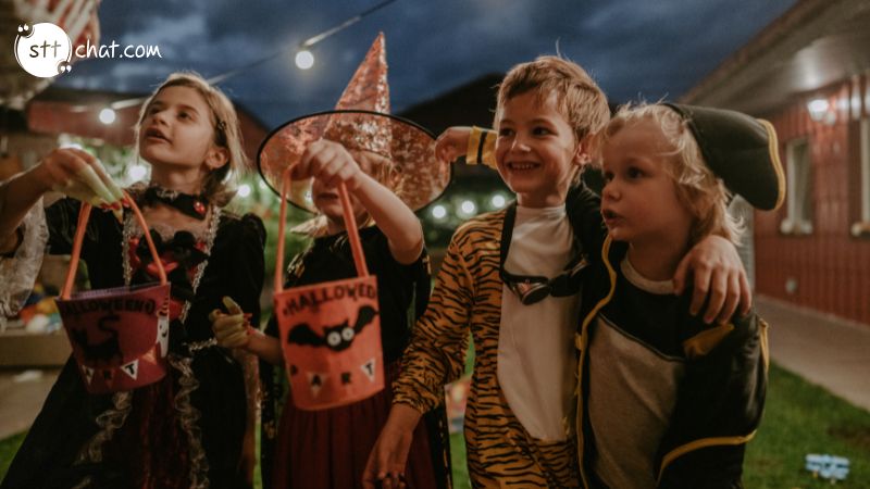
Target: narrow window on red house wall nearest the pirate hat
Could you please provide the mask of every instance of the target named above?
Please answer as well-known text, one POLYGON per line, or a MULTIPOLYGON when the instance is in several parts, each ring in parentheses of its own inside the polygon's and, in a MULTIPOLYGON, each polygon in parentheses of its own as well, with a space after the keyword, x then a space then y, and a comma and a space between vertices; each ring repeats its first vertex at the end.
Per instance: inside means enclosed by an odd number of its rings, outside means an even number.
POLYGON ((788 141, 785 146, 786 216, 780 224, 782 233, 812 233, 812 162, 806 139, 788 141))

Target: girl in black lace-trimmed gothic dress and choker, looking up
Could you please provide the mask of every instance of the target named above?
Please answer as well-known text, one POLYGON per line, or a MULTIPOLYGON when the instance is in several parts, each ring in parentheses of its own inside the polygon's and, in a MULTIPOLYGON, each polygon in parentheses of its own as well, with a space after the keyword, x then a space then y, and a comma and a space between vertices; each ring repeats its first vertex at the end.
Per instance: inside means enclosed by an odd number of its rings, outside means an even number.
MULTIPOLYGON (((233 196, 229 175, 246 162, 238 117, 232 102, 202 78, 173 74, 142 105, 137 145, 151 164, 151 180, 129 190, 172 269, 170 373, 133 391, 89 394, 71 359, 0 485, 3 489, 252 484, 253 461, 244 457, 243 368, 215 348, 208 319, 224 296, 235 297, 253 321, 260 312, 262 222, 223 208, 233 196)), ((49 252, 70 253, 79 199, 117 211, 121 196, 113 186, 87 152, 52 151, 8 183, 0 211, 3 251, 27 241, 15 237, 30 210, 36 218, 24 233, 46 229, 47 222, 49 252), (40 198, 51 189, 75 198, 61 199, 42 213, 40 198)), ((95 289, 157 280, 130 214, 125 212, 120 222, 108 210, 92 212, 82 259, 95 289)))

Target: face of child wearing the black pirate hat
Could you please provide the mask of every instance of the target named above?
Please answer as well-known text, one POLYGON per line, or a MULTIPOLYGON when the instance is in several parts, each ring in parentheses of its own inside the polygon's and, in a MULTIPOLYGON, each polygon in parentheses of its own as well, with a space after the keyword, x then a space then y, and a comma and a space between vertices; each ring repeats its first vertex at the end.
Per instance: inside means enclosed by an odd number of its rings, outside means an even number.
POLYGON ((601 215, 610 236, 632 244, 688 242, 692 212, 666 165, 672 147, 651 121, 625 126, 605 142, 601 215))

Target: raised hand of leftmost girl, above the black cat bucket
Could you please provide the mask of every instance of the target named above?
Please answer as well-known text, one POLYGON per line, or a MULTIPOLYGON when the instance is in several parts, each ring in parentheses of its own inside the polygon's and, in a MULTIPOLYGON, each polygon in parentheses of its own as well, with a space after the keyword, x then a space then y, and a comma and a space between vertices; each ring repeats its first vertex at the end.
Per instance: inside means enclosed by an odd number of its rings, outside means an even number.
POLYGON ((57 149, 42 159, 36 175, 46 190, 54 190, 95 206, 121 209, 124 193, 90 153, 57 149))

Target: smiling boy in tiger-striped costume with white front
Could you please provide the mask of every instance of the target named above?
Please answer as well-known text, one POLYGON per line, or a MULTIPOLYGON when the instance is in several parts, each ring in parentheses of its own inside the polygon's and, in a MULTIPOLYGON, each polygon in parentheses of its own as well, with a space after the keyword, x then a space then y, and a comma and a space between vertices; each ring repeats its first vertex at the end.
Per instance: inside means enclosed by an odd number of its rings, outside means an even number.
MULTIPOLYGON (((543 57, 506 75, 493 153, 517 202, 453 235, 394 385, 364 487, 403 486, 413 427, 443 398, 443 386, 462 374, 469 333, 475 361, 464 432, 472 482, 579 485, 572 434, 577 291, 584 253, 602 237, 597 197, 569 190, 608 118, 604 93, 574 63, 543 57)), ((463 143, 453 148, 464 152, 463 143)), ((737 269, 736 253, 724 254, 737 269)))

